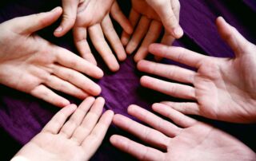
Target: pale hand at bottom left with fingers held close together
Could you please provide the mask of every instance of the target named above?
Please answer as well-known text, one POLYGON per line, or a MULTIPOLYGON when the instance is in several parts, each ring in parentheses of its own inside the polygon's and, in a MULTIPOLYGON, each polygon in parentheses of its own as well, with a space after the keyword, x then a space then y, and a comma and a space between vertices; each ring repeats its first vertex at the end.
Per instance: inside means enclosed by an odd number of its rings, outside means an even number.
POLYGON ((88 97, 78 108, 74 104, 62 108, 42 132, 18 151, 14 160, 89 160, 102 143, 114 116, 111 111, 102 115, 104 102, 103 98, 88 97))

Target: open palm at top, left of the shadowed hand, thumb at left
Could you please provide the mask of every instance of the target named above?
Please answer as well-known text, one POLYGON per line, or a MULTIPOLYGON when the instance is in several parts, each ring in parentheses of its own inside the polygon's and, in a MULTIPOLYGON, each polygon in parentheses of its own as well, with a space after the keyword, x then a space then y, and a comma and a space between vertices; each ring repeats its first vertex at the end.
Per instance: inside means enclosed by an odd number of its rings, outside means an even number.
POLYGON ((109 69, 113 72, 118 71, 118 61, 126 59, 126 52, 118 34, 115 32, 110 14, 127 33, 133 32, 130 22, 122 14, 118 3, 114 0, 88 0, 80 2, 78 0, 62 0, 62 5, 64 8, 62 23, 55 30, 54 35, 61 37, 73 28, 74 44, 77 46, 79 53, 87 61, 96 65, 97 62, 87 42, 87 35, 89 34, 95 49, 102 56, 109 69), (105 37, 110 42, 118 59, 114 56, 105 37))

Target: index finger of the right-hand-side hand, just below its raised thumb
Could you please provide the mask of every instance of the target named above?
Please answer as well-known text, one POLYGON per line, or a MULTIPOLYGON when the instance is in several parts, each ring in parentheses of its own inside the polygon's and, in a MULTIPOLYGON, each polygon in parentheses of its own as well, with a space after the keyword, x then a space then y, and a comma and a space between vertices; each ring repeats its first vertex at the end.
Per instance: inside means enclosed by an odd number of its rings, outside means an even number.
POLYGON ((200 53, 195 53, 182 47, 160 44, 150 45, 149 51, 154 54, 154 56, 165 57, 194 68, 198 68, 203 59, 206 58, 206 56, 200 53))

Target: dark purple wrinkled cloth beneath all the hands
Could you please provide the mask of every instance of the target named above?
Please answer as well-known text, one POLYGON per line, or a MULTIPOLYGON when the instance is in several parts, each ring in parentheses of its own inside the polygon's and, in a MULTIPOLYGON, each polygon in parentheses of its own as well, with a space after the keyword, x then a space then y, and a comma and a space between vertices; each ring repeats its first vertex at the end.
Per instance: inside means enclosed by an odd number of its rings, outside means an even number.
MULTIPOLYGON (((182 6, 180 23, 185 31, 185 35, 182 39, 175 41, 174 45, 180 45, 198 53, 209 54, 214 57, 233 57, 234 55, 230 48, 218 36, 218 31, 214 24, 218 16, 224 17, 227 22, 235 26, 247 39, 256 44, 256 1, 180 0, 180 2, 182 6)), ((52 2, 50 0, 2 1, 0 2, 0 22, 18 16, 51 10, 54 6, 60 5, 60 1, 52 2)), ((127 14, 130 3, 122 1, 121 7, 127 14)), ((62 38, 53 36, 52 33, 56 26, 58 26, 58 22, 47 29, 43 29, 39 34, 56 45, 61 45, 77 53, 70 33, 62 38)), ((116 24, 115 26, 118 33, 120 33, 120 27, 116 24)), ((98 60, 102 61, 99 57, 98 60)), ((170 61, 166 62, 170 63, 170 61)), ((130 104, 138 104, 150 110, 150 104, 154 102, 177 100, 142 88, 139 84, 139 78, 142 76, 142 73, 138 73, 136 70, 132 57, 129 57, 122 63, 118 73, 110 73, 106 69, 106 65, 103 63, 99 64, 106 73, 105 77, 98 81, 98 84, 102 87, 101 96, 106 99, 106 109, 111 109, 115 113, 128 116, 126 108, 130 104)), ((62 94, 62 96, 66 95, 62 94)), ((78 104, 80 102, 80 100, 76 100, 73 97, 66 97, 74 101, 74 103, 78 104)), ((42 127, 56 112, 58 112, 58 108, 46 104, 42 100, 0 85, 0 127, 3 132, 10 135, 17 143, 27 143, 34 135, 40 132, 42 127)), ((254 136, 256 135, 256 130, 254 124, 226 124, 205 120, 200 117, 197 118, 214 124, 226 132, 230 132, 230 134, 241 139, 255 151, 256 140, 254 140, 254 136)), ((92 160, 131 159, 129 155, 123 154, 110 145, 108 139, 114 133, 128 135, 118 128, 111 126, 106 139, 92 160)), ((5 140, 1 139, 1 141, 5 143, 5 140)))

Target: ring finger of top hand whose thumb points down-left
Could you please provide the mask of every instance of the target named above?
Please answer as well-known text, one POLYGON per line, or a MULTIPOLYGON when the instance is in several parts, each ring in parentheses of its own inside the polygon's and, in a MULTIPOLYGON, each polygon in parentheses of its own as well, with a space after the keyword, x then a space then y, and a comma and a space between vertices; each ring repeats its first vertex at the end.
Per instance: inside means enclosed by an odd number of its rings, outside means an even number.
POLYGON ((118 34, 114 30, 114 26, 109 15, 107 15, 102 21, 102 30, 114 49, 114 52, 117 54, 118 60, 124 61, 126 59, 126 51, 122 46, 122 42, 120 41, 118 34))

